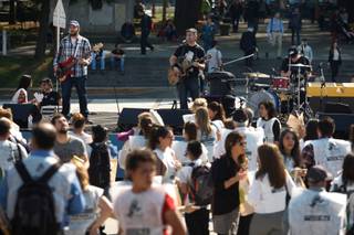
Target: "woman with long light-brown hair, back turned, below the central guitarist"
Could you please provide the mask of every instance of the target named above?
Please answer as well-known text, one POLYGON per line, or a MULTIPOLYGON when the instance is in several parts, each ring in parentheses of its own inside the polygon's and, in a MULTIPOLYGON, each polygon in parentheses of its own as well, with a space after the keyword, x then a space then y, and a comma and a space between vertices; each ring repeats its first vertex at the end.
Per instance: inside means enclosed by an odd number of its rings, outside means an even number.
POLYGON ((208 159, 212 162, 214 146, 218 137, 218 130, 210 121, 208 109, 198 108, 196 111, 196 125, 197 125, 197 140, 202 142, 208 149, 208 159))

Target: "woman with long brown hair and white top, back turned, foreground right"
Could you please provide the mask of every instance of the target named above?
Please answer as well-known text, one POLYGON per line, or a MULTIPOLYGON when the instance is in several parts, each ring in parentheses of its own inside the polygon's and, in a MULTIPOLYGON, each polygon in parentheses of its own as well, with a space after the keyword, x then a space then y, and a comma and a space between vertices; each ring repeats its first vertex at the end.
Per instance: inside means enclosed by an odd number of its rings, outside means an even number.
POLYGON ((258 171, 248 195, 254 207, 250 235, 284 234, 283 216, 295 184, 285 171, 275 145, 258 148, 258 171))

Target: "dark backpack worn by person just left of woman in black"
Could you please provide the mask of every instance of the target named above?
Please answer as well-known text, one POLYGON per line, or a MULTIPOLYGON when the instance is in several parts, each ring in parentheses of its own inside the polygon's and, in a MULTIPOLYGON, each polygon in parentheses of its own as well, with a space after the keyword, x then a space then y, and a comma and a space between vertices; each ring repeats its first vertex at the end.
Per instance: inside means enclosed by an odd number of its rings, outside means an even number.
POLYGON ((211 203, 214 194, 211 169, 207 165, 194 165, 194 163, 190 163, 190 167, 192 167, 189 185, 191 200, 196 205, 208 205, 211 203))

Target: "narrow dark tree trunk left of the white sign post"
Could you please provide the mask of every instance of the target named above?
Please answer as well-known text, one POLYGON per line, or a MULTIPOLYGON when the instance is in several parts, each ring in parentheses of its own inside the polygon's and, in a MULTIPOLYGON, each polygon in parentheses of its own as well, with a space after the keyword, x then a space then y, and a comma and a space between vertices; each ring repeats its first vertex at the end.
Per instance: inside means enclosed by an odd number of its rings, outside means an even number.
POLYGON ((41 0, 40 30, 35 44, 34 57, 41 60, 45 56, 46 35, 49 30, 50 1, 41 0))

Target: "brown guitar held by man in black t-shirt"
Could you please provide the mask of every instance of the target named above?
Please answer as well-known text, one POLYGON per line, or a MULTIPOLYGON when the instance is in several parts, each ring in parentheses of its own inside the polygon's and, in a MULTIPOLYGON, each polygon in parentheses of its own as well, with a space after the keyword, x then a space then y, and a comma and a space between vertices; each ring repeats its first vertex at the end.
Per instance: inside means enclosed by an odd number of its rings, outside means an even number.
POLYGON ((173 86, 176 85, 177 83, 180 82, 183 77, 185 77, 192 70, 194 62, 204 62, 210 58, 211 58, 210 54, 192 61, 188 61, 184 58, 183 62, 177 63, 178 66, 174 66, 168 70, 168 83, 173 86), (178 68, 178 72, 174 70, 175 67, 178 68))

